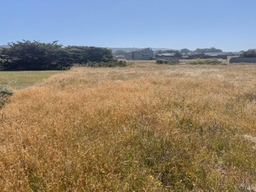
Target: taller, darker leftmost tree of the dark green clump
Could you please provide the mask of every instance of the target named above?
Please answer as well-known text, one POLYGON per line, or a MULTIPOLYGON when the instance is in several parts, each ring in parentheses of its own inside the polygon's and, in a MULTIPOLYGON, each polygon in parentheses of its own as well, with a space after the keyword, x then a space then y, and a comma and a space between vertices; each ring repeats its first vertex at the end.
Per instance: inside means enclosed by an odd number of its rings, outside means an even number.
POLYGON ((63 69, 65 64, 58 62, 64 52, 62 45, 53 43, 39 43, 38 41, 18 41, 9 43, 9 48, 3 48, 1 54, 11 58, 11 62, 4 62, 3 70, 47 70, 63 69))

